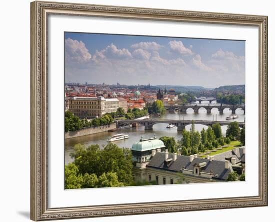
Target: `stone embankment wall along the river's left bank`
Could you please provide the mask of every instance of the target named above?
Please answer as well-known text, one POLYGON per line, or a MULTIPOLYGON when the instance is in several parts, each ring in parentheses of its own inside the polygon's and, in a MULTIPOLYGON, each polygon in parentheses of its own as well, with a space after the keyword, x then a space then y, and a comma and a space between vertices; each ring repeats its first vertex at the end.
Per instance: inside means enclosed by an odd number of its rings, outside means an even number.
POLYGON ((65 132, 65 139, 79 137, 79 136, 86 136, 86 135, 91 135, 91 134, 96 134, 96 133, 102 133, 102 132, 106 132, 109 130, 115 130, 115 129, 116 129, 115 123, 105 125, 105 126, 97 126, 97 127, 78 129, 75 131, 65 132))

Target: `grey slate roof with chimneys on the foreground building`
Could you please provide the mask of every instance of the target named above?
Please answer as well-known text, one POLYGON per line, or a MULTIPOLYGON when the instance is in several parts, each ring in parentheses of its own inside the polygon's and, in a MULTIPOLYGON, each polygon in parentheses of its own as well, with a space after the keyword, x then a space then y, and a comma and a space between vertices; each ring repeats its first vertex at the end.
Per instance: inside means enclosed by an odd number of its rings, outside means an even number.
MULTIPOLYGON (((169 154, 168 159, 172 158, 172 154, 169 154)), ((165 161, 165 154, 157 152, 151 158, 147 167, 158 168, 162 170, 168 170, 173 172, 181 172, 182 169, 193 170, 193 166, 196 163, 206 162, 206 165, 200 169, 201 172, 212 173, 214 178, 225 180, 230 172, 233 172, 232 167, 225 169, 224 160, 212 160, 194 158, 192 162, 189 161, 189 156, 177 156, 175 161, 165 161)))

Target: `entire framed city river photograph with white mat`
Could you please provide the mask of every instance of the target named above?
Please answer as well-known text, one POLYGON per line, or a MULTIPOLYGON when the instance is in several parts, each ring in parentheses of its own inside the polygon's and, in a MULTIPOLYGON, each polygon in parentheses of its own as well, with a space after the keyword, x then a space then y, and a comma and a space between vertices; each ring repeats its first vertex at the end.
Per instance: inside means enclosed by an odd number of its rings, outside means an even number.
POLYGON ((32 220, 267 205, 267 17, 30 7, 32 220))

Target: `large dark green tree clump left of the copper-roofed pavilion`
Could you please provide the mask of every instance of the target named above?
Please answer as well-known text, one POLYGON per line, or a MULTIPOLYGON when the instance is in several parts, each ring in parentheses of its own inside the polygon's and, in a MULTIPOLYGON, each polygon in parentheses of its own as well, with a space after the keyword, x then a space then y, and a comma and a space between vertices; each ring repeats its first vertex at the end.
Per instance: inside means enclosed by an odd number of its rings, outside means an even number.
POLYGON ((132 181, 131 151, 119 148, 116 144, 109 143, 100 150, 98 145, 85 147, 81 144, 74 146, 71 153, 74 164, 80 174, 94 173, 98 179, 103 173, 115 172, 119 182, 128 185, 132 181))

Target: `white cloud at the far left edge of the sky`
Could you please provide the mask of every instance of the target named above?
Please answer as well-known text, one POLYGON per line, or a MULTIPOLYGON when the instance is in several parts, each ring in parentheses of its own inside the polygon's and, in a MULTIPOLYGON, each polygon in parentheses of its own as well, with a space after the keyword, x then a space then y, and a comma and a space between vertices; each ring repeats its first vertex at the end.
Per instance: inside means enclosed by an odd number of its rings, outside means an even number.
POLYGON ((91 59, 85 44, 82 41, 65 39, 65 58, 67 61, 84 63, 91 59))

